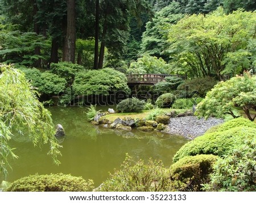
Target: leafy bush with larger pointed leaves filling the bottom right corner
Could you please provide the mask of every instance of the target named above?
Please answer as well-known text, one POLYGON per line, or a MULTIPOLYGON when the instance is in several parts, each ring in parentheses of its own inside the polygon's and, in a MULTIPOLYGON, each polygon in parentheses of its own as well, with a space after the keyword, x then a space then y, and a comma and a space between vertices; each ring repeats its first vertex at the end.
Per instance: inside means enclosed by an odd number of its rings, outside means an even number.
POLYGON ((219 159, 210 175, 206 191, 255 191, 256 187, 256 139, 234 149, 230 155, 219 159))

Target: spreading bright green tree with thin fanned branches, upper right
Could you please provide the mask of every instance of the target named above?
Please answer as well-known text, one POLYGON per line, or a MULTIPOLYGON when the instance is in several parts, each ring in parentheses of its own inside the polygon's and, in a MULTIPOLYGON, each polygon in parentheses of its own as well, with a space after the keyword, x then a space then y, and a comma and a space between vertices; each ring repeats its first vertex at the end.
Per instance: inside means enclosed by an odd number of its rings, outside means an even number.
POLYGON ((189 78, 214 74, 223 81, 250 69, 255 20, 255 12, 225 15, 222 7, 207 15, 185 16, 168 28, 172 71, 187 73, 189 78))

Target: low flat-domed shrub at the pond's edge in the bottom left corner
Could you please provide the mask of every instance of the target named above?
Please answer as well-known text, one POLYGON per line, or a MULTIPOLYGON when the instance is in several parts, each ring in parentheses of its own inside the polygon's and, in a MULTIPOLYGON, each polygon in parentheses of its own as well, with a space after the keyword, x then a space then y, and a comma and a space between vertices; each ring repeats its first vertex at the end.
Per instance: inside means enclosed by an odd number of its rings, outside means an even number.
POLYGON ((84 192, 92 191, 93 180, 64 174, 30 175, 15 180, 6 192, 84 192))

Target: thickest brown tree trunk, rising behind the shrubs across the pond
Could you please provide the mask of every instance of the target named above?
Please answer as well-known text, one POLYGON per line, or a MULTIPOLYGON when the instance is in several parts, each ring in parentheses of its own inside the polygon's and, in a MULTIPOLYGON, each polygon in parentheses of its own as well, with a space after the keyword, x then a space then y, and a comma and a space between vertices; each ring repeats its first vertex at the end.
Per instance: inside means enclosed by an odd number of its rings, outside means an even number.
POLYGON ((67 35, 63 44, 63 61, 75 63, 76 47, 76 10, 75 0, 67 0, 67 35))

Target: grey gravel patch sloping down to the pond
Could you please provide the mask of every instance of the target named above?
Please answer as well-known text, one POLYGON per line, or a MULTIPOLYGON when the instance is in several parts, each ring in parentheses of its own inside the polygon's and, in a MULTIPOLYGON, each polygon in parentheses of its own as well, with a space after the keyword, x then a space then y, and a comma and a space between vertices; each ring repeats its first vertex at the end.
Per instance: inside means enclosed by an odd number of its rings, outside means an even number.
POLYGON ((196 116, 176 117, 170 119, 170 124, 166 128, 166 132, 170 134, 178 134, 187 139, 194 139, 201 136, 210 127, 224 122, 222 119, 209 118, 198 119, 196 116))

